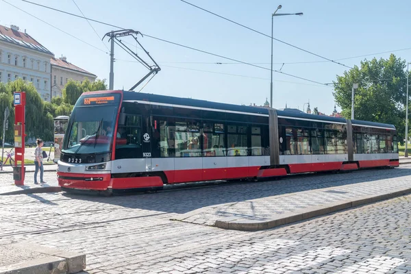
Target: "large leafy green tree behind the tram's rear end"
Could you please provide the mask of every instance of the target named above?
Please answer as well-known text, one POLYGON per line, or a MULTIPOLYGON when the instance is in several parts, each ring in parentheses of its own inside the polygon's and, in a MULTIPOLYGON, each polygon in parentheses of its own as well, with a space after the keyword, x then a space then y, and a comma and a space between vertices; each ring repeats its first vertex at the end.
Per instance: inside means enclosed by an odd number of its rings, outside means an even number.
POLYGON ((405 136, 406 62, 391 54, 388 59, 364 60, 360 67, 345 71, 334 82, 334 99, 345 118, 351 119, 351 88, 358 83, 354 95, 355 118, 389 123, 397 127, 399 140, 405 136))

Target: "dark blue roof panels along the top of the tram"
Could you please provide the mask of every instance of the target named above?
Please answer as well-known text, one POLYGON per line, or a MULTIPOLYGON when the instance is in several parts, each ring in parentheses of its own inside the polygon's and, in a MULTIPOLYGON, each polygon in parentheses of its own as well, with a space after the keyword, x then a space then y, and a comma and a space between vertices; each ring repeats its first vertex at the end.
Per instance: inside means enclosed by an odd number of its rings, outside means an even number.
MULTIPOLYGON (((190 98, 181 98, 181 97, 172 97, 166 95, 154 95, 149 93, 142 93, 142 92, 132 92, 132 91, 123 91, 123 100, 136 100, 136 101, 150 101, 155 103, 164 103, 170 105, 186 105, 189 107, 195 108, 212 108, 215 110, 229 110, 234 112, 245 112, 245 113, 253 113, 253 114, 266 114, 269 115, 269 110, 267 108, 262 107, 253 107, 249 105, 232 105, 229 103, 216 103, 206 100, 198 100, 198 99, 190 99, 190 98)), ((315 114, 308 114, 302 111, 292 110, 292 109, 284 109, 284 110, 276 110, 278 116, 287 116, 293 118, 301 118, 307 120, 319 120, 319 121, 328 121, 328 122, 337 122, 337 123, 347 123, 347 120, 344 118, 339 117, 332 117, 332 116, 323 116, 323 115, 315 115, 315 114)), ((359 120, 352 120, 354 125, 362 125, 362 126, 371 126, 371 127, 384 127, 395 129, 394 125, 384 124, 384 123, 375 123, 369 121, 359 121, 359 120)))

